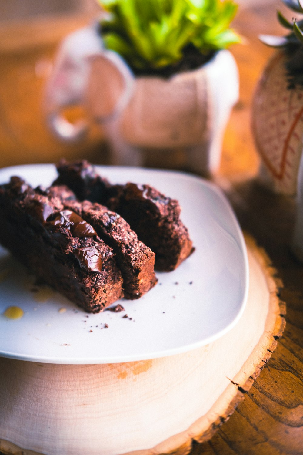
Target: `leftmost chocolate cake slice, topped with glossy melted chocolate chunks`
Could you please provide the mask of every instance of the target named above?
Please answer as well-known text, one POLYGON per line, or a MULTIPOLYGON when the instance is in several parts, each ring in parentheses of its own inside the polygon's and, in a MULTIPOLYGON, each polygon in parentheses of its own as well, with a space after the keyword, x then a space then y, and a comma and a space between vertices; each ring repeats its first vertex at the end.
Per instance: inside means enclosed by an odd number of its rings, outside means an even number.
POLYGON ((90 313, 123 296, 112 249, 60 198, 12 177, 0 207, 0 243, 38 278, 90 313))

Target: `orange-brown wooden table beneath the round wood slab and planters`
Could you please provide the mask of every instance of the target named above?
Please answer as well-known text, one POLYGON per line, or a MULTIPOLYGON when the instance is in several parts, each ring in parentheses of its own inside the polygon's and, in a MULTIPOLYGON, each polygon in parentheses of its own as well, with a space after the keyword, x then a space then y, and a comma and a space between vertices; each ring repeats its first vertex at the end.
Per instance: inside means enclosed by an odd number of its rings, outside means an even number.
MULTIPOLYGON (((219 428, 209 442, 201 445, 195 443, 192 455, 303 453, 303 267, 293 257, 289 248, 294 201, 289 197, 268 193, 258 186, 255 177, 259 159, 250 131, 253 89, 272 52, 258 41, 257 35, 278 33, 280 29, 275 19, 276 7, 277 5, 254 6, 240 10, 235 21, 235 27, 245 36, 244 44, 233 48, 240 71, 240 100, 228 124, 222 164, 214 180, 224 188, 243 229, 265 248, 277 268, 277 275, 284 283, 281 299, 287 303, 287 325, 269 363, 264 364, 260 376, 245 394, 245 399, 238 405, 232 417, 219 428)), ((39 51, 27 48, 27 76, 32 78, 31 86, 34 84, 38 92, 43 85, 43 77, 37 79, 39 67, 38 70, 36 67, 35 77, 31 75, 30 68, 39 57, 39 61, 42 61, 40 71, 46 71, 47 62, 54 53, 54 44, 44 43, 39 51), (41 56, 44 60, 41 60, 41 56)), ((102 152, 99 146, 102 135, 96 131, 84 146, 59 145, 45 131, 42 120, 34 121, 30 114, 21 109, 24 116, 15 117, 15 121, 20 122, 20 128, 12 134, 12 106, 7 107, 3 102, 7 102, 8 93, 11 93, 12 97, 15 93, 13 84, 17 67, 20 65, 20 54, 16 51, 8 52, 7 47, 0 51, 5 56, 5 64, 0 69, 0 76, 5 84, 5 91, 3 84, 0 89, 0 166, 50 162, 62 155, 83 156, 94 162, 106 163, 106 152, 102 152), (5 109, 8 116, 5 116, 5 109), (33 137, 33 131, 37 131, 37 128, 40 136, 33 137), (20 136, 20 131, 23 136, 20 136)), ((22 65, 25 65, 25 61, 22 65)), ((28 83, 26 77, 24 83, 25 86, 28 83)), ((28 101, 23 94, 20 95, 21 98, 29 104, 32 103, 29 111, 39 111, 37 97, 34 96, 28 101)), ((17 103, 19 98, 15 97, 11 102, 14 100, 17 103)), ((182 157, 174 159, 172 164, 168 157, 167 161, 162 163, 163 167, 182 168, 182 157)))

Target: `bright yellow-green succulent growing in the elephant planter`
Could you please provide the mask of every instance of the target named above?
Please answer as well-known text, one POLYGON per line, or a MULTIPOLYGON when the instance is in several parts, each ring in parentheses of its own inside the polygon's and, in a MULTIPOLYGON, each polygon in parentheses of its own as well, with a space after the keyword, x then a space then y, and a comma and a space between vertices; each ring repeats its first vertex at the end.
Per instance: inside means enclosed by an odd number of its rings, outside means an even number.
POLYGON ((182 71, 240 41, 229 27, 233 0, 99 0, 108 12, 101 35, 134 72, 182 71))

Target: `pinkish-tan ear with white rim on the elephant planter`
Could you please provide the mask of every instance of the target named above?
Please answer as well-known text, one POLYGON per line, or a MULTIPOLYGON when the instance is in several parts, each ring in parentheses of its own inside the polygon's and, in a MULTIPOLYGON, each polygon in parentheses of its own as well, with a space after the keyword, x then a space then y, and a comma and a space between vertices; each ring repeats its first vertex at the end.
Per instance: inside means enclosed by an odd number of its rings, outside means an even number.
POLYGON ((103 122, 119 115, 133 92, 134 76, 113 51, 91 58, 86 101, 95 120, 103 122))

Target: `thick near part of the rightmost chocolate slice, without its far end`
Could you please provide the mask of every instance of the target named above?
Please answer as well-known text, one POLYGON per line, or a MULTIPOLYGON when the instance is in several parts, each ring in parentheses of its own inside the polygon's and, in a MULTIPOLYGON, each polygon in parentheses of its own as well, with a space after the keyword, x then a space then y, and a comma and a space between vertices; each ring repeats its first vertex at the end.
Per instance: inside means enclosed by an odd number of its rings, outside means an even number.
POLYGON ((108 206, 124 217, 138 238, 156 253, 157 270, 170 272, 193 253, 177 200, 149 185, 126 183, 115 189, 108 206))

